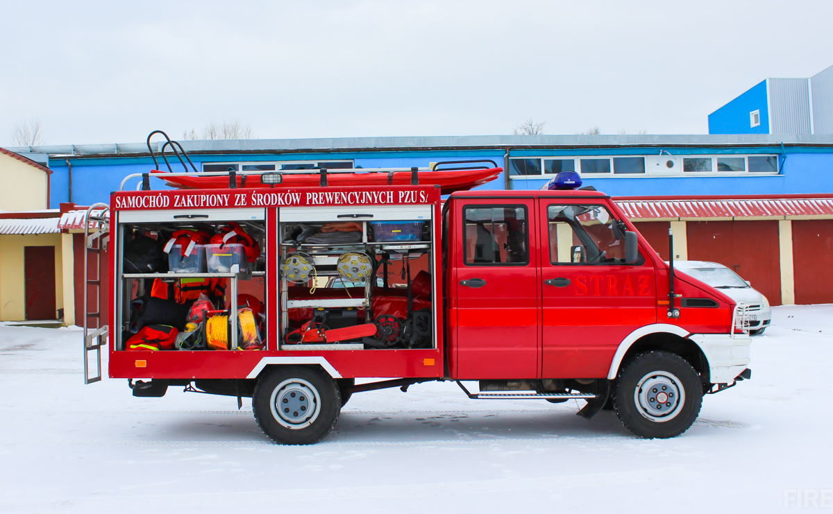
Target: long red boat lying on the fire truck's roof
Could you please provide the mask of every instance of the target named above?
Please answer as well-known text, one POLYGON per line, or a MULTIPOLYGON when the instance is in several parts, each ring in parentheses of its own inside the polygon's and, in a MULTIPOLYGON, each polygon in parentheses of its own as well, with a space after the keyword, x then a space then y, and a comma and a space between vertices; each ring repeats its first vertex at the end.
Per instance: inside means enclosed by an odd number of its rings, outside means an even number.
MULTIPOLYGON (((495 180, 501 174, 503 168, 481 168, 481 169, 456 169, 439 171, 417 171, 420 185, 439 185, 441 194, 449 195, 454 191, 470 190, 477 185, 486 184, 495 180)), ((212 175, 168 175, 167 171, 153 170, 156 175, 165 180, 168 185, 180 189, 225 189, 229 186, 227 174, 222 176, 212 175)), ((282 187, 317 187, 321 184, 321 170, 310 170, 307 173, 282 173, 275 171, 271 175, 282 175, 282 187)), ((410 185, 412 184, 412 171, 373 171, 357 170, 344 173, 327 172, 327 183, 329 185, 410 185)), ((264 184, 263 175, 237 175, 237 187, 269 187, 272 184, 264 184)))

